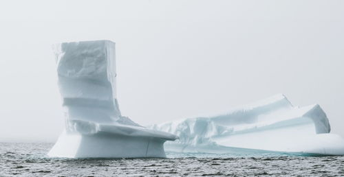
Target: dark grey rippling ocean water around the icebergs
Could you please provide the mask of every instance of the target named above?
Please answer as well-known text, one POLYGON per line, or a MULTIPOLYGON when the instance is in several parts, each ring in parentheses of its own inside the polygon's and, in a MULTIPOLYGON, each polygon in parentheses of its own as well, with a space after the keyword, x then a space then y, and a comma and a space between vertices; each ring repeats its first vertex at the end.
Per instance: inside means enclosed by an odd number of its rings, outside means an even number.
POLYGON ((344 176, 344 156, 179 154, 48 158, 52 143, 0 143, 0 176, 344 176))

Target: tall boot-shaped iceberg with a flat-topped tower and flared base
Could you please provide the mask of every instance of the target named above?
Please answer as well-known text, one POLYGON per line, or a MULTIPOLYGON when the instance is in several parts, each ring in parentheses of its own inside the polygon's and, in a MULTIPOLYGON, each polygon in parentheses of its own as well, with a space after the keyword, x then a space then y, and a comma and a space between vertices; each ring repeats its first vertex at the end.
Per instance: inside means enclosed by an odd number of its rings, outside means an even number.
POLYGON ((65 130, 48 156, 69 158, 165 157, 173 134, 149 130, 120 114, 116 99, 115 43, 54 46, 65 130))

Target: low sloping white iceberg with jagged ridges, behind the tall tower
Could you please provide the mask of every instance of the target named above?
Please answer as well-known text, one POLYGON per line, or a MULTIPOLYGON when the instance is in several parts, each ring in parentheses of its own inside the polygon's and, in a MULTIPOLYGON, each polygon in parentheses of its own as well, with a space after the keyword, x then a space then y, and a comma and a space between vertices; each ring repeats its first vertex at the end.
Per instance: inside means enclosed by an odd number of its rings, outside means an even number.
POLYGON ((176 134, 165 143, 172 152, 344 155, 344 139, 330 133, 330 123, 318 105, 292 106, 275 95, 224 115, 181 119, 150 126, 176 134))

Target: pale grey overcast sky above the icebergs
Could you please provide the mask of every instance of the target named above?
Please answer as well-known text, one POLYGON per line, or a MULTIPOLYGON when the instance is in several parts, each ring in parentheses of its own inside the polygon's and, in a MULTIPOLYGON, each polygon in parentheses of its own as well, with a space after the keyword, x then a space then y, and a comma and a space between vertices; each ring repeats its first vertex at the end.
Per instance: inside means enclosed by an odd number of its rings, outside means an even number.
POLYGON ((52 44, 116 43, 122 115, 218 115, 283 93, 344 136, 344 1, 1 1, 0 141, 63 130, 52 44))

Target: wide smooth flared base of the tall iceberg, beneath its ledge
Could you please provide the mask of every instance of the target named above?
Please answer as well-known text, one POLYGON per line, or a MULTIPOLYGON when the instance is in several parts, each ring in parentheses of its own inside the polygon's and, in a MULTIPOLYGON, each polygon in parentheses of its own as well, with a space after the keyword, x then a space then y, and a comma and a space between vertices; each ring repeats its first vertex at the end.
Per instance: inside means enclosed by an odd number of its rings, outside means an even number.
POLYGON ((162 139, 152 137, 133 137, 107 132, 63 132, 47 155, 64 158, 165 158, 163 143, 162 139))

